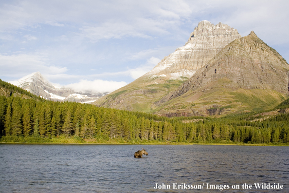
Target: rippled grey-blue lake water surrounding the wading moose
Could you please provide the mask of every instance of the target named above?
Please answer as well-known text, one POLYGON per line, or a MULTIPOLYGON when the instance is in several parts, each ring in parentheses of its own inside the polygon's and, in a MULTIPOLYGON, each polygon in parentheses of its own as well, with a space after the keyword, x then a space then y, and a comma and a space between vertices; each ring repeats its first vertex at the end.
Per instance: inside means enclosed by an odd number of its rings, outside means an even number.
POLYGON ((0 144, 1 193, 273 192, 254 183, 279 183, 274 191, 289 193, 289 147, 0 144), (142 147, 148 156, 134 158, 142 147))

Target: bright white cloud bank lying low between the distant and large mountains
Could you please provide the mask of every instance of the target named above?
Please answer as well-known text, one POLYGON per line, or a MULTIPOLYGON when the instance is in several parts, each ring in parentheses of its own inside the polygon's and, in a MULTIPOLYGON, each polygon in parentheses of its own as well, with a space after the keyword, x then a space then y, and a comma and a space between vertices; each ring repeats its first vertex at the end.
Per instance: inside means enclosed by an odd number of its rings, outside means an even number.
POLYGON ((126 86, 126 82, 116 82, 107 80, 80 80, 77 83, 68 84, 65 87, 71 88, 76 92, 93 92, 93 93, 110 93, 123 86, 126 86))

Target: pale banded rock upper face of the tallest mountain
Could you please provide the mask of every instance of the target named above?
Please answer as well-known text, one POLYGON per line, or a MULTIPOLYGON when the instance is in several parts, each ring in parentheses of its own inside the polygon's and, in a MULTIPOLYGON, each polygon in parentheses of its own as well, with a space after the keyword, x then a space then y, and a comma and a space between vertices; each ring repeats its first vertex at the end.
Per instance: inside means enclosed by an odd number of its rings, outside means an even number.
POLYGON ((183 47, 163 60, 147 76, 166 78, 191 77, 223 47, 241 35, 229 25, 200 21, 183 47))

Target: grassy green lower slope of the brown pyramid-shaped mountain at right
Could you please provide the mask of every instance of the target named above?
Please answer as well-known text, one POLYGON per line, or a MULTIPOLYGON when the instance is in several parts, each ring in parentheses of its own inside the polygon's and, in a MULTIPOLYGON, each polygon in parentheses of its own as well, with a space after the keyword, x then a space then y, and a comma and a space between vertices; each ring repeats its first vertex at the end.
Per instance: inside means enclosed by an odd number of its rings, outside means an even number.
POLYGON ((185 112, 188 116, 220 116, 247 111, 270 110, 284 101, 287 96, 270 89, 222 88, 227 80, 214 82, 211 90, 192 91, 174 98, 153 112, 158 115, 185 112))

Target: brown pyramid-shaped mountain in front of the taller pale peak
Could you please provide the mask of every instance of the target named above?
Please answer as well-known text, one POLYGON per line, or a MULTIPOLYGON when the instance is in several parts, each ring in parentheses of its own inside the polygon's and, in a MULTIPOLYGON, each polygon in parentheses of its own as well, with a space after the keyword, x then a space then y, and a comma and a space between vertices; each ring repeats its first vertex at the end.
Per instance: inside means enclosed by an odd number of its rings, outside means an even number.
POLYGON ((252 31, 235 39, 176 91, 159 115, 204 116, 267 110, 289 94, 289 64, 252 31))

